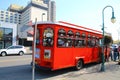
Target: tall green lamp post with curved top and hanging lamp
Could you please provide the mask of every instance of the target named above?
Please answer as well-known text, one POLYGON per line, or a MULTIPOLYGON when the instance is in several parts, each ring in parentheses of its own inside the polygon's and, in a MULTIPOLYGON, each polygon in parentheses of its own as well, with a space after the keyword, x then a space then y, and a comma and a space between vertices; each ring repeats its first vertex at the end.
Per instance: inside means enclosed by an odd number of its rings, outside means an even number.
POLYGON ((104 10, 106 9, 106 8, 108 8, 108 7, 110 7, 110 8, 112 8, 112 18, 111 18, 111 22, 112 23, 115 23, 115 16, 114 16, 114 9, 113 9, 113 7, 112 6, 106 6, 106 7, 104 7, 103 8, 103 10, 102 10, 102 31, 103 31, 103 38, 102 38, 102 64, 101 64, 101 71, 105 71, 105 66, 104 66, 104 63, 105 63, 105 59, 104 59, 104 10))

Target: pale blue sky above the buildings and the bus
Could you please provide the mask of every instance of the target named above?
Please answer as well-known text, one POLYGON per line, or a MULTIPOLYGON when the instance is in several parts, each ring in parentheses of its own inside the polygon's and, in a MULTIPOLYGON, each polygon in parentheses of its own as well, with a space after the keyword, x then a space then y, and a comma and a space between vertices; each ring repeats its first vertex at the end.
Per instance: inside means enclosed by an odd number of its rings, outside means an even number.
MULTIPOLYGON (((0 10, 10 4, 26 6, 30 0, 0 0, 0 10)), ((104 10, 105 31, 114 40, 120 40, 120 0, 54 0, 56 2, 56 21, 66 21, 80 26, 102 31, 102 10, 110 5, 114 8, 116 23, 111 23, 112 8, 104 10)))

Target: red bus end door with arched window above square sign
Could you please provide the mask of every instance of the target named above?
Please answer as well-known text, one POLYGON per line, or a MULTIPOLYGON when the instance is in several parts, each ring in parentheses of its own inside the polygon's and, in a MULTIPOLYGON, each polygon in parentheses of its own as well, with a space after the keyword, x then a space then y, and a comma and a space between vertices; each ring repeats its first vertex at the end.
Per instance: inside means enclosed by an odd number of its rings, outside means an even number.
POLYGON ((43 29, 43 42, 42 42, 42 59, 44 61, 44 65, 50 66, 52 60, 52 53, 53 53, 53 28, 47 27, 43 29))

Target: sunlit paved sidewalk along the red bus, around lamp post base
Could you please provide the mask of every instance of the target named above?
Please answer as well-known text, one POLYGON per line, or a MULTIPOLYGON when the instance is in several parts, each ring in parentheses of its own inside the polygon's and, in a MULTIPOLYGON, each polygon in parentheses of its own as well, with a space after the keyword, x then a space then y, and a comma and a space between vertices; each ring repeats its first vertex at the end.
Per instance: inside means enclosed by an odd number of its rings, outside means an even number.
POLYGON ((101 64, 58 75, 45 80, 120 80, 120 65, 118 62, 106 62, 105 71, 100 72, 101 64))

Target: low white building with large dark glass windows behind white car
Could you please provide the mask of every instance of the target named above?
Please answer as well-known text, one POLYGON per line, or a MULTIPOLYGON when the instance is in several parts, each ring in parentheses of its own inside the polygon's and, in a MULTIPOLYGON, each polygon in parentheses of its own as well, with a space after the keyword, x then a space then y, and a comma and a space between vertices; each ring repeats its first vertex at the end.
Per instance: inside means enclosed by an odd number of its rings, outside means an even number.
POLYGON ((17 44, 17 24, 0 22, 0 49, 17 44))

